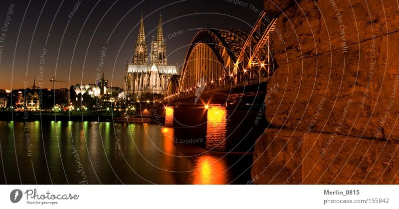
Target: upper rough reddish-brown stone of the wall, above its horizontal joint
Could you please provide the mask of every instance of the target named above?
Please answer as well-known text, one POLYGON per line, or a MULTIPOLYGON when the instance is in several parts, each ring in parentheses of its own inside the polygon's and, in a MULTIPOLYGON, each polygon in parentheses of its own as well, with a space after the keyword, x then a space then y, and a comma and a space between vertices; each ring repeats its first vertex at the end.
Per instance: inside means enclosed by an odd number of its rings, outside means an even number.
POLYGON ((280 93, 267 120, 299 130, 315 120, 314 131, 399 140, 397 2, 264 2, 282 37, 274 38, 279 67, 270 81, 280 93))

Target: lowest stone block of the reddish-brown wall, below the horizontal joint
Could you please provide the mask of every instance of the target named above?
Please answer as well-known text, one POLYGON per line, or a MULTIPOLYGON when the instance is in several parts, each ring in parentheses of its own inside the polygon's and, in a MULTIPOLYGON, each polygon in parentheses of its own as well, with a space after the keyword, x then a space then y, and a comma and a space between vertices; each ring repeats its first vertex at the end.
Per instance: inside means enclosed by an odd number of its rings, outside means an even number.
POLYGON ((326 146, 328 140, 324 133, 267 129, 255 145, 255 183, 399 184, 396 141, 337 135, 326 146))

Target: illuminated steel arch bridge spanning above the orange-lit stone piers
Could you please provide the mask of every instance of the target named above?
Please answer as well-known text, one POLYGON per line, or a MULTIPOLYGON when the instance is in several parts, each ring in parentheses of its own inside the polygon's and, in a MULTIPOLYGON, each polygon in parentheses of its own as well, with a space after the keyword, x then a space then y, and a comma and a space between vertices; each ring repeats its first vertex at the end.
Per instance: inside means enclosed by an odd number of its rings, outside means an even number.
POLYGON ((251 31, 204 28, 188 49, 180 79, 169 82, 167 101, 264 83, 275 68, 271 34, 276 19, 263 11, 251 31))

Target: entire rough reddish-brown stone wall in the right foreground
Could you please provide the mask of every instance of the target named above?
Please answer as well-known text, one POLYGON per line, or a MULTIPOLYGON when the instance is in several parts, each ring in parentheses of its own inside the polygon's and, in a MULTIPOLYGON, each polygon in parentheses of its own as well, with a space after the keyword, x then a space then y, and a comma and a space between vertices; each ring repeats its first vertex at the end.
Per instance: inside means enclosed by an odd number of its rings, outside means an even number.
POLYGON ((256 183, 399 183, 397 1, 264 5, 278 18, 266 118, 281 130, 256 143, 256 183))

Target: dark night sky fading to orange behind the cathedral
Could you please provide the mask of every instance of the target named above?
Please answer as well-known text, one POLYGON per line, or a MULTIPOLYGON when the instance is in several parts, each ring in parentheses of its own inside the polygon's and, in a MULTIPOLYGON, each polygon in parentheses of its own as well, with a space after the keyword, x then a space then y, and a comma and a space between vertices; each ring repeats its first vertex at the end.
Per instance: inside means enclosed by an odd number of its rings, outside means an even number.
POLYGON ((33 78, 36 86, 42 82, 42 88, 51 88, 53 76, 67 82, 57 83, 56 88, 94 84, 103 47, 107 56, 101 73, 108 79, 108 86, 123 88, 141 12, 148 53, 162 13, 168 64, 178 63, 180 72, 196 31, 203 27, 250 29, 263 8, 262 0, 244 0, 244 5, 229 0, 83 0, 72 16, 77 2, 0 1, 0 89, 23 88, 24 82, 31 88, 33 78), (10 4, 14 4, 12 14, 10 4), (253 11, 250 4, 259 10, 253 11), (2 30, 4 24, 6 31, 2 30), (181 35, 174 37, 179 31, 181 35), (45 58, 41 58, 43 48, 45 58))

